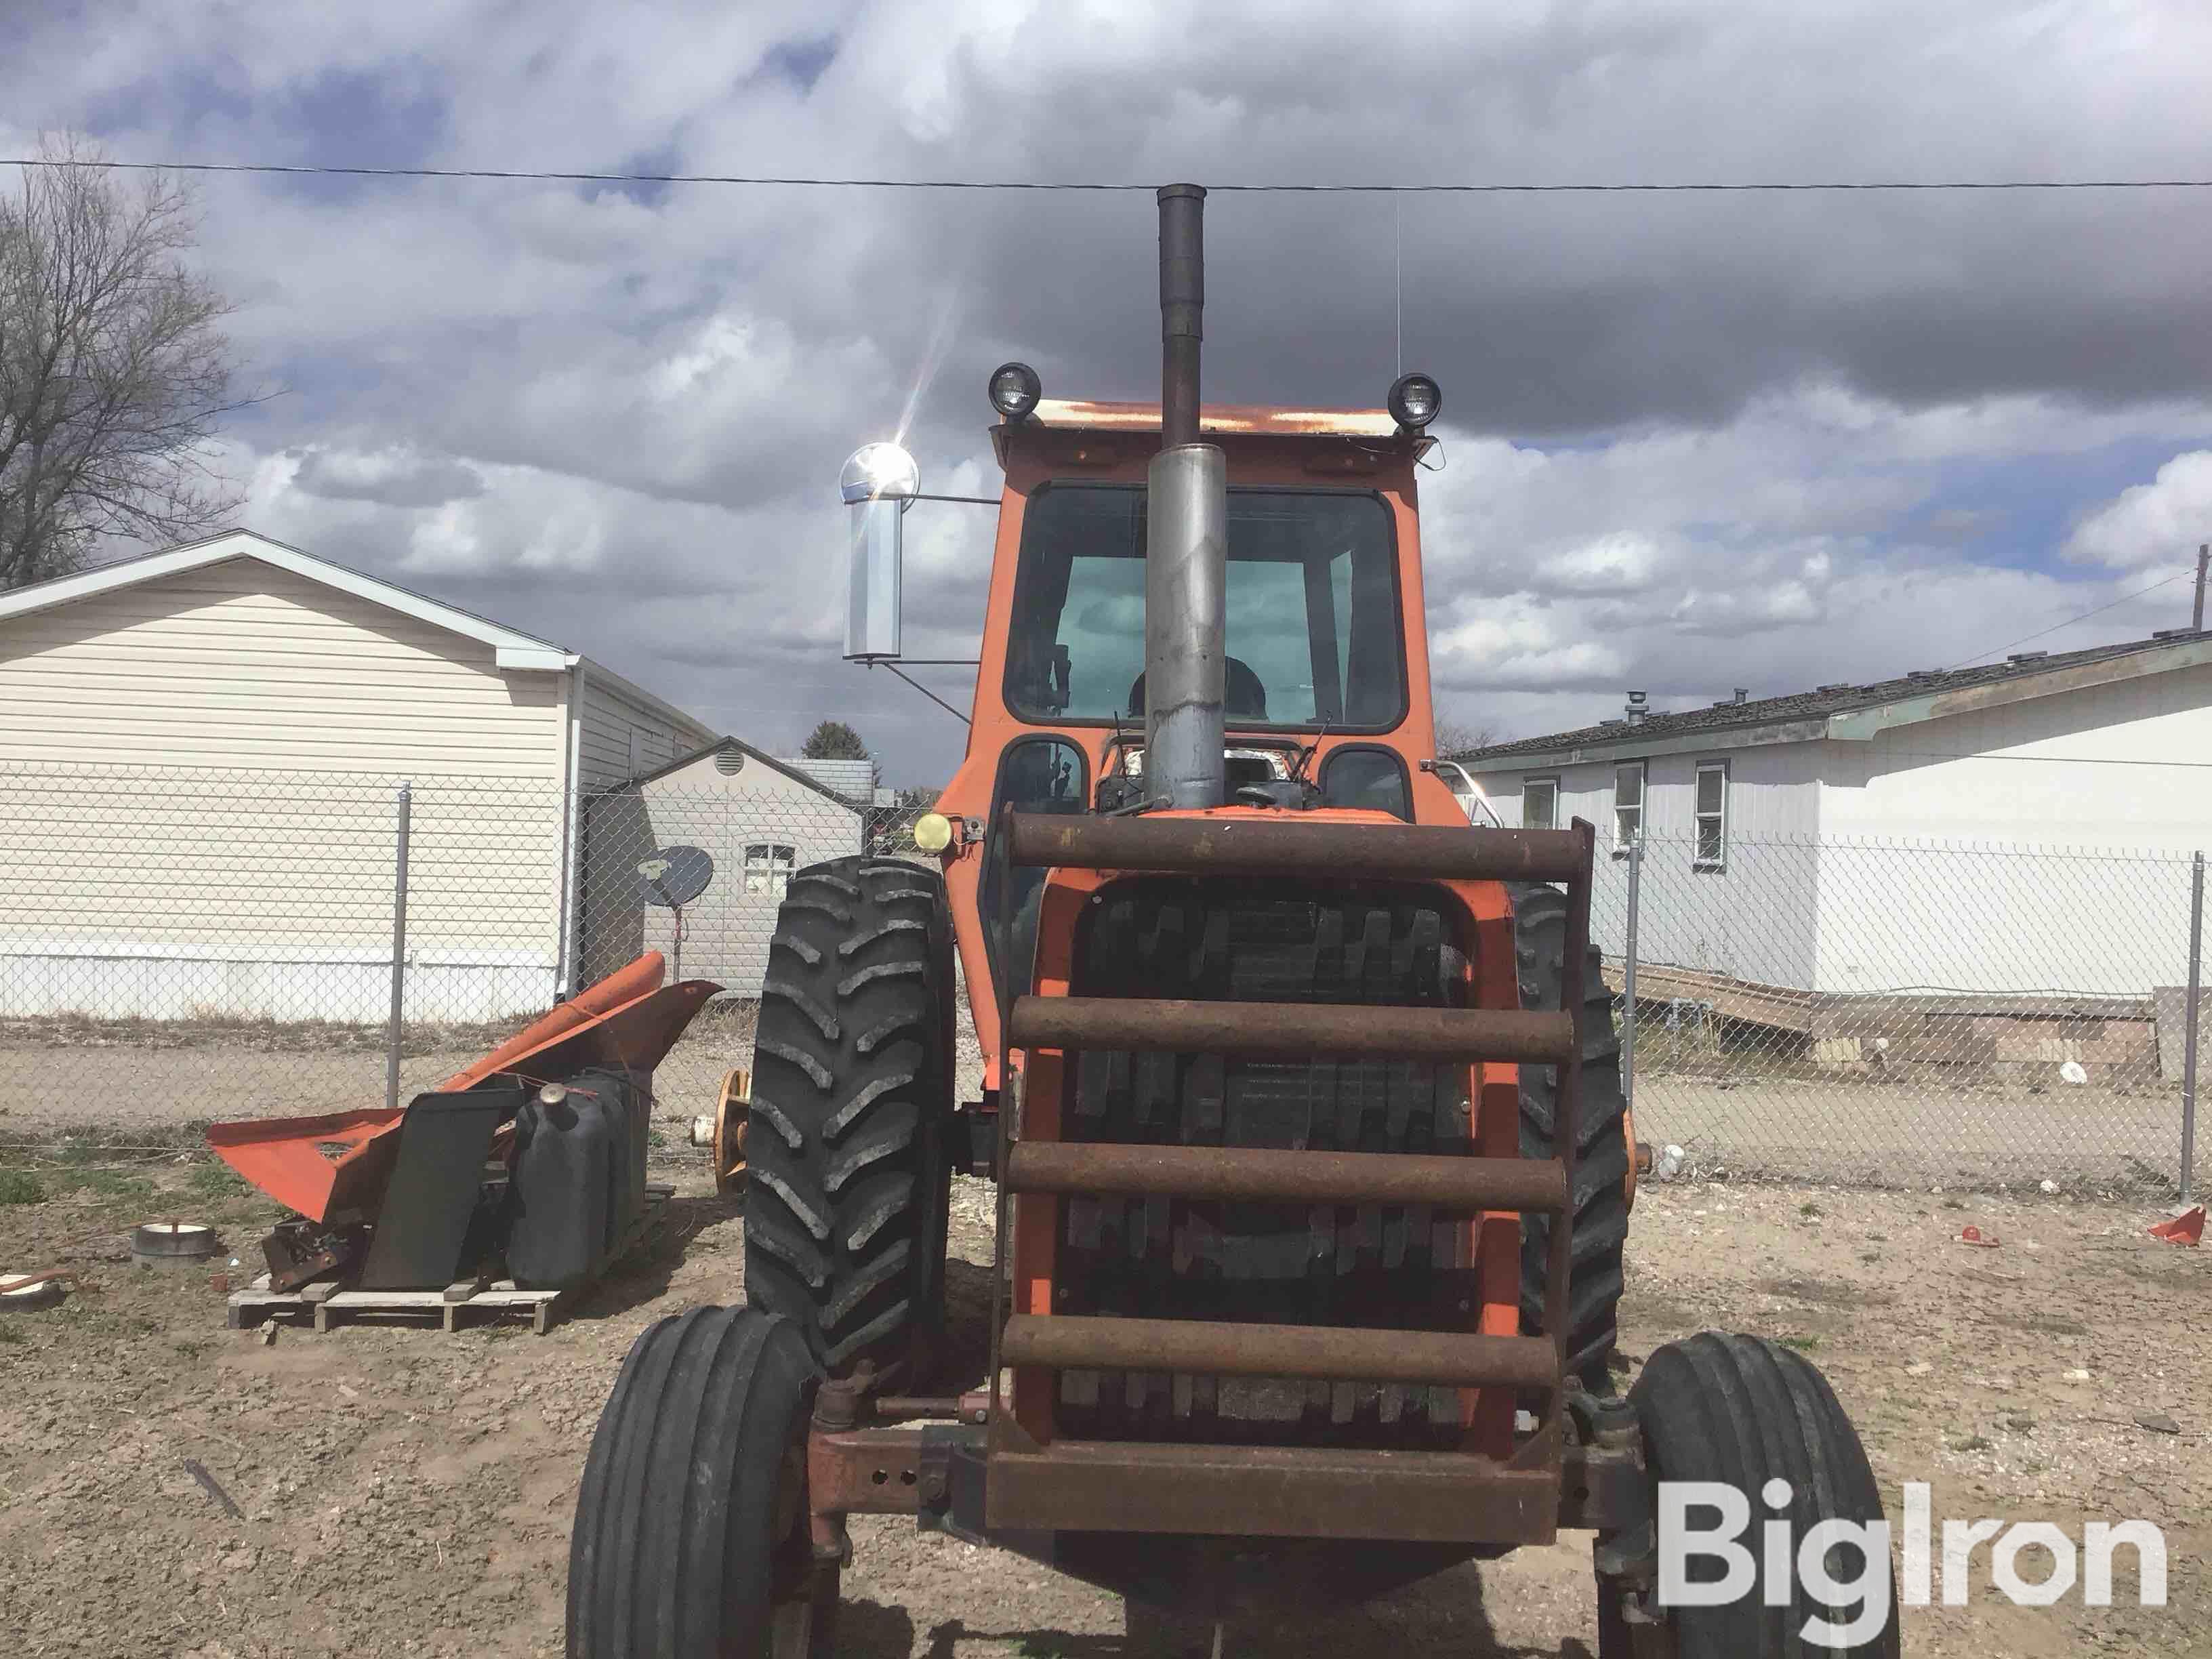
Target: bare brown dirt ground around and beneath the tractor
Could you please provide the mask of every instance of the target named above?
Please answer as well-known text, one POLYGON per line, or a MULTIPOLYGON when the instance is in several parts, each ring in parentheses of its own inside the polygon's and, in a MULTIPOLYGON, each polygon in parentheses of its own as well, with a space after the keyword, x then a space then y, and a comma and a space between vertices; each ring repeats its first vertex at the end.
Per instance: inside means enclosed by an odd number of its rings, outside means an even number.
MULTIPOLYGON (((688 1110, 688 1108, 686 1108, 688 1110)), ((84 1113, 77 1115, 82 1128, 84 1113)), ((46 1121, 42 1135, 60 1126, 46 1121)), ((113 1124, 159 1144, 173 1126, 113 1124)), ((188 1146, 188 1137, 177 1137, 188 1146)), ((223 1329, 208 1270, 148 1272, 126 1228, 221 1225, 252 1259, 268 1206, 197 1155, 15 1148, 0 1168, 0 1270, 84 1276, 49 1312, 0 1314, 0 1628, 24 1655, 551 1655, 568 1520, 599 1405, 650 1321, 743 1296, 741 1201, 708 1194, 661 1126, 675 1221, 646 1256, 526 1327, 352 1325, 274 1345, 223 1329), (133 1161, 146 1159, 146 1161, 133 1161), (22 1177, 29 1177, 24 1183, 22 1177), (188 1471, 237 1504, 230 1517, 188 1471)), ((1975 1557, 1966 1606, 1905 1613, 1922 1655, 2183 1655, 2212 1648, 2212 1259, 2143 1237, 2154 1210, 1683 1181, 1646 1188, 1626 1354, 1694 1329, 1787 1338, 1834 1380, 1896 1513, 2146 1517, 2170 1606, 2013 1608, 1975 1557), (1997 1250, 1955 1243, 1962 1223, 1997 1250), (2179 1433, 2137 1416, 2163 1413, 2179 1433)), ((991 1188, 962 1181, 956 1316, 980 1340, 991 1188)), ((891 1520, 854 1524, 841 1652, 860 1659, 1110 1659, 1150 1650, 1115 1597, 891 1520)), ((2031 1551, 2024 1573, 2039 1577, 2031 1551)), ((1444 1573, 1296 1628, 1228 1632, 1237 1655, 1458 1652, 1586 1659, 1588 1537, 1444 1573)))

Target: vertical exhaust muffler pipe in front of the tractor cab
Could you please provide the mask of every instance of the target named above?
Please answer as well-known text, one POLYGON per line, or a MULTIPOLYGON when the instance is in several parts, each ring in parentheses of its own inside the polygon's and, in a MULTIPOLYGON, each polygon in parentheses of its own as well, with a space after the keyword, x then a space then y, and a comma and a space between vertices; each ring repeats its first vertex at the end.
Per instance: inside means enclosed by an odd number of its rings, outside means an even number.
POLYGON ((1144 772, 1175 807, 1228 799, 1221 752, 1230 473, 1199 442, 1206 190, 1159 192, 1159 456, 1146 476, 1144 772))

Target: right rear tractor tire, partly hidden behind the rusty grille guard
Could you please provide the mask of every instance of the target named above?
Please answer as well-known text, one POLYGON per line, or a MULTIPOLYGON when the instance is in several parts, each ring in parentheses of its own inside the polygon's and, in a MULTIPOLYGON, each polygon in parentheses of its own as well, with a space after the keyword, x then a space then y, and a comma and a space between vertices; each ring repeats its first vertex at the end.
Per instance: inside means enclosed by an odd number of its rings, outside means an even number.
MULTIPOLYGON (((1566 896, 1542 883, 1509 883, 1513 958, 1524 1009, 1557 1011, 1566 964, 1566 896)), ((1610 1358, 1619 1343, 1621 1250, 1628 1243, 1630 1150, 1621 1095, 1621 1040, 1613 1031, 1613 991, 1593 945, 1582 962, 1582 1104, 1575 1115, 1575 1217, 1571 1234, 1568 1369, 1590 1394, 1613 1394, 1610 1358)), ((1522 1066, 1522 1157, 1557 1157, 1555 1066, 1522 1066)), ((1551 1272, 1551 1217, 1522 1217, 1522 1332, 1544 1334, 1551 1272)))

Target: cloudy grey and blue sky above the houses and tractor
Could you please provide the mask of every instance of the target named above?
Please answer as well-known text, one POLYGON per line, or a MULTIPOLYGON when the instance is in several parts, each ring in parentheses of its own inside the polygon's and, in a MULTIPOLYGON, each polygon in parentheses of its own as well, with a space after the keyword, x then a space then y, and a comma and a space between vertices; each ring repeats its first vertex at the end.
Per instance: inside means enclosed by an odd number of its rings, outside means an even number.
MULTIPOLYGON (((11 20, 0 153, 1199 181, 2212 175, 2188 0, 221 4, 11 20), (29 38, 24 38, 29 27, 29 38)), ((210 177, 241 522, 894 783, 962 728, 838 659, 836 471, 993 493, 987 372, 1157 396, 1148 195, 210 177)), ((1438 701, 1533 734, 2188 622, 2212 192, 1252 197, 1208 394, 1444 385, 1438 701), (2124 595, 2168 580, 2124 604, 2124 595)), ((989 513, 909 518, 909 655, 989 513)), ((953 701, 958 670, 933 684, 953 701)))

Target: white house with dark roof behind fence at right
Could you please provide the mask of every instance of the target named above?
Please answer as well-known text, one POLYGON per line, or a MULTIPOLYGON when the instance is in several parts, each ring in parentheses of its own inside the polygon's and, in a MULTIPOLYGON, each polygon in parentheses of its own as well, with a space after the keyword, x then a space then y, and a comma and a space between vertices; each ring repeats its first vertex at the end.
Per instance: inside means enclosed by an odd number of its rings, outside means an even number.
POLYGON ((2212 847, 2212 633, 1743 692, 1453 757, 1509 825, 1599 830, 1619 949, 1814 993, 2141 998, 2212 847))

